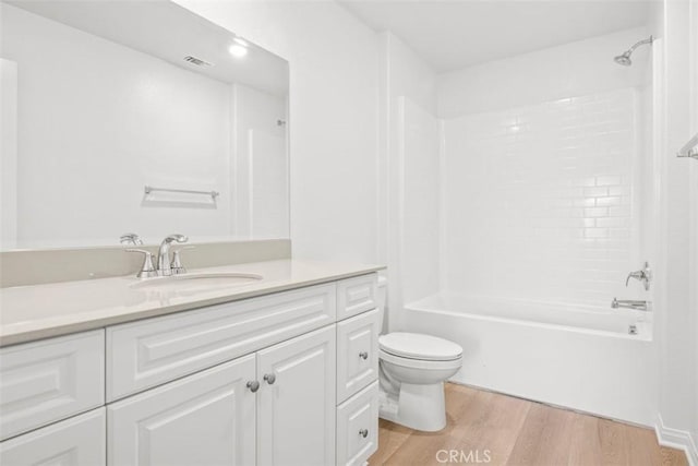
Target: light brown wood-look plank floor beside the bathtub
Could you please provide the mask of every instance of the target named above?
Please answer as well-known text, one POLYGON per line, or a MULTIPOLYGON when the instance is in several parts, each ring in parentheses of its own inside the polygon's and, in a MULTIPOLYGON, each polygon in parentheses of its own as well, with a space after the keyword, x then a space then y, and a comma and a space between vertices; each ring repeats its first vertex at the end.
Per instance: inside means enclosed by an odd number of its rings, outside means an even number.
POLYGON ((369 465, 688 464, 683 452, 660 446, 650 429, 452 383, 446 416, 446 428, 434 433, 381 419, 369 465))

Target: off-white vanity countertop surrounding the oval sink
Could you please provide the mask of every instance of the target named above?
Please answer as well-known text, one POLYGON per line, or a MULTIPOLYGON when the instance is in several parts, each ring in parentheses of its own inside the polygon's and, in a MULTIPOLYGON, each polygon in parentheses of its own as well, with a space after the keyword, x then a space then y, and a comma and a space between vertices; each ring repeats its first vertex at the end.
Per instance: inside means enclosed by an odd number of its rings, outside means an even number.
POLYGON ((348 278, 378 265, 282 260, 189 271, 251 273, 263 279, 205 291, 133 288, 135 276, 0 288, 0 346, 348 278))

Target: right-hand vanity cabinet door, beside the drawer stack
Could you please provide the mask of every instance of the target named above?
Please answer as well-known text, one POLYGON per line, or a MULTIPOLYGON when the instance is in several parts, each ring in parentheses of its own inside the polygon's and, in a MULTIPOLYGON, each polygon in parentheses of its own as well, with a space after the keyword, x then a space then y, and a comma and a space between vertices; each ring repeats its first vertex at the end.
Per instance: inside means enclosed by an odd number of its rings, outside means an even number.
POLYGON ((257 464, 334 464, 335 325, 258 351, 257 377, 257 464))

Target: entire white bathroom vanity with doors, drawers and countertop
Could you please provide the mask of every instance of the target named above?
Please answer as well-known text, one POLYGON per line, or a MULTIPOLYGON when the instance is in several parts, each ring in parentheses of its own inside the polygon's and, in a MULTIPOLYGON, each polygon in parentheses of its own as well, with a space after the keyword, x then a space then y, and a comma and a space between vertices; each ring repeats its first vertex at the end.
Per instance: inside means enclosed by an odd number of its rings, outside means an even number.
POLYGON ((93 330, 0 348, 0 463, 365 464, 377 449, 380 268, 218 267, 264 278, 195 294, 136 291, 134 278, 3 289, 5 344, 93 330), (48 310, 80 302, 52 330, 48 310), (17 331, 35 308, 34 330, 17 331))

